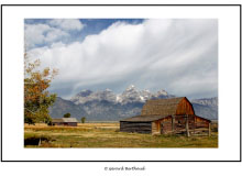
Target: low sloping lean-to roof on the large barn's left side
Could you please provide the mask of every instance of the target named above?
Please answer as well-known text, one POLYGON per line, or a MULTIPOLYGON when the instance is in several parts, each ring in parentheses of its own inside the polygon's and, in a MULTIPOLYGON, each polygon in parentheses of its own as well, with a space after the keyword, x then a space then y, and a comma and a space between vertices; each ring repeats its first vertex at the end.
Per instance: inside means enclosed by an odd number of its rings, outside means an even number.
POLYGON ((136 116, 121 120, 121 122, 153 122, 168 116, 136 116))

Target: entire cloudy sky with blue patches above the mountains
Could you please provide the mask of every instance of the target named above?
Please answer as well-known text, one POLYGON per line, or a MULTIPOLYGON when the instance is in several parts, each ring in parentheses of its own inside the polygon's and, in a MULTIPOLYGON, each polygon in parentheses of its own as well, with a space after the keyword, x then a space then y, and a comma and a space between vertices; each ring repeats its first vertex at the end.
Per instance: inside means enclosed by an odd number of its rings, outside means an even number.
POLYGON ((30 58, 59 70, 50 91, 63 98, 129 85, 218 96, 215 19, 25 19, 24 37, 30 58))

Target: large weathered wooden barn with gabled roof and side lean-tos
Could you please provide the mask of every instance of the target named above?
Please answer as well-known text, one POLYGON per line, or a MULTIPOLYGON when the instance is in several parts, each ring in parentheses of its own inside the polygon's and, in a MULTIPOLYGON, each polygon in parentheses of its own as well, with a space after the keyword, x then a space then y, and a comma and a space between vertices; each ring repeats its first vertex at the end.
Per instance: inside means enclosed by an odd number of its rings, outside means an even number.
POLYGON ((207 132, 210 135, 210 120, 195 114, 186 97, 148 100, 141 116, 120 121, 120 131, 152 134, 207 132))

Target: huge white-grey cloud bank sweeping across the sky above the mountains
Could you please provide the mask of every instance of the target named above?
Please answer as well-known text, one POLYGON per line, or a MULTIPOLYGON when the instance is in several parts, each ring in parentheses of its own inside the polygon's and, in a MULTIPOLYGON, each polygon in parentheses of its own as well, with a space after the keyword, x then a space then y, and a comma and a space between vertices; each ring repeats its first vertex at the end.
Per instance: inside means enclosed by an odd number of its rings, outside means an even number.
POLYGON ((62 85, 72 94, 82 87, 124 89, 134 84, 177 96, 209 97, 218 91, 217 28, 217 20, 118 22, 81 43, 57 43, 30 53, 44 66, 59 69, 52 87, 56 91, 62 85))

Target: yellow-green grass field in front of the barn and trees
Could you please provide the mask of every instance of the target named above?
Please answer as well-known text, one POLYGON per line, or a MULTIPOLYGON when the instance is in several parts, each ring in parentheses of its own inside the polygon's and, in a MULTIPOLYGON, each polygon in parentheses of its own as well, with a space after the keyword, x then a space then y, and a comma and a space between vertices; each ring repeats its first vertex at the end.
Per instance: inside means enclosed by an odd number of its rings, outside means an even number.
POLYGON ((24 140, 25 144, 29 140, 24 147, 218 147, 218 132, 190 138, 125 133, 119 132, 119 123, 79 123, 73 128, 25 124, 24 140))

